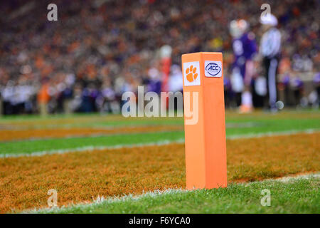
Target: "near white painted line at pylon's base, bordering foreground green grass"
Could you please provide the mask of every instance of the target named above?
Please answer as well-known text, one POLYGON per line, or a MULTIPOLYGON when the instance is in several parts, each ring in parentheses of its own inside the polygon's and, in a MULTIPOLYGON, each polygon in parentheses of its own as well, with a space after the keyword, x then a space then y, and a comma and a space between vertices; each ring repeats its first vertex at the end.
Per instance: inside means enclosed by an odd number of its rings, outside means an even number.
MULTIPOLYGON (((311 178, 320 178, 320 172, 318 173, 311 173, 308 175, 296 175, 296 176, 288 176, 288 177, 280 177, 275 179, 266 179, 261 181, 255 181, 255 182, 246 182, 246 183, 238 183, 237 185, 252 185, 255 183, 261 183, 261 182, 289 182, 291 180, 309 180, 311 178)), ((69 204, 68 206, 62 206, 62 207, 47 207, 44 209, 29 209, 25 210, 22 213, 38 213, 38 212, 63 212, 64 209, 85 209, 86 207, 92 207, 95 205, 99 205, 102 203, 112 204, 113 202, 125 202, 129 200, 139 200, 144 198, 156 198, 162 195, 170 195, 170 194, 176 194, 176 193, 184 193, 184 192, 192 192, 197 190, 184 190, 181 188, 176 189, 166 189, 166 190, 155 190, 153 192, 144 192, 141 195, 124 195, 123 197, 100 197, 98 196, 97 199, 95 199, 93 202, 90 203, 79 203, 79 204, 69 204)))

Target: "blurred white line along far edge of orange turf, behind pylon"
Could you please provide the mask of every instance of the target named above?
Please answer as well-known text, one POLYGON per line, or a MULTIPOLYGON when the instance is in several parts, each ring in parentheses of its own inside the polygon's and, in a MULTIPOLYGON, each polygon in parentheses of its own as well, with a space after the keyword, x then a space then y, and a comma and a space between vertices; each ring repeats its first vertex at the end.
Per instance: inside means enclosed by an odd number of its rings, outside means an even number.
MULTIPOLYGON (((319 129, 309 129, 309 130, 289 130, 276 133, 252 133, 245 135, 230 135, 227 137, 228 140, 237 140, 237 139, 247 139, 247 138, 262 138, 262 137, 272 137, 272 136, 281 136, 281 135, 296 135, 296 134, 312 134, 319 133, 319 129)), ((33 157, 33 156, 43 156, 43 155, 53 155, 53 154, 64 154, 68 152, 82 152, 82 151, 92 151, 92 150, 107 150, 107 149, 121 149, 121 148, 132 148, 132 147, 146 147, 154 145, 169 145, 171 143, 184 143, 184 138, 178 140, 161 140, 158 142, 146 142, 146 143, 137 143, 137 144, 119 144, 119 145, 110 145, 110 146, 85 146, 85 147, 75 147, 69 149, 61 150, 43 150, 31 153, 21 153, 21 154, 0 154, 0 158, 3 157, 33 157)))

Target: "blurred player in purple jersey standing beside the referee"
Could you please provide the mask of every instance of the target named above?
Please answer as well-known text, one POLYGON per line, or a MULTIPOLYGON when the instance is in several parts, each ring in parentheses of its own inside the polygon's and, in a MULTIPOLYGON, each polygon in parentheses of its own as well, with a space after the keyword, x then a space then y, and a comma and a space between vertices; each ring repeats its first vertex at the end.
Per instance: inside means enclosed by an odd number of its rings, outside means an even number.
POLYGON ((233 36, 234 62, 231 73, 231 86, 238 97, 240 112, 252 111, 250 83, 254 71, 252 58, 257 53, 255 35, 247 32, 249 24, 241 19, 230 22, 230 34, 233 36))

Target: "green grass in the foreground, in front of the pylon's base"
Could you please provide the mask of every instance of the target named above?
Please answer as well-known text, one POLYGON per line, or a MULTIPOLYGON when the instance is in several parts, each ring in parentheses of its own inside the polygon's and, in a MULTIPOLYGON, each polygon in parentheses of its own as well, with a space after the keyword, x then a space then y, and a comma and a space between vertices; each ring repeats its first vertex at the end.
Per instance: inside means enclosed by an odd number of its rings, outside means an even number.
POLYGON ((265 180, 231 184, 225 189, 153 192, 140 197, 104 199, 93 204, 47 209, 39 213, 319 213, 320 178, 265 180), (262 190, 270 190, 270 206, 262 190))

